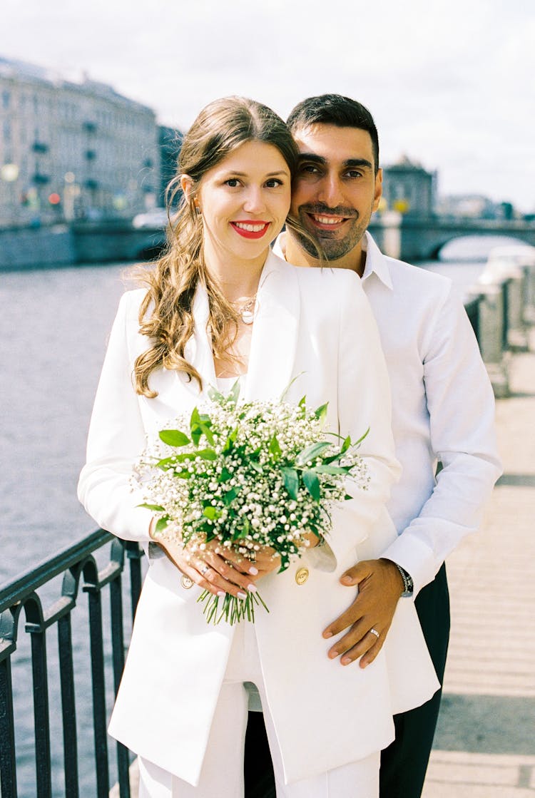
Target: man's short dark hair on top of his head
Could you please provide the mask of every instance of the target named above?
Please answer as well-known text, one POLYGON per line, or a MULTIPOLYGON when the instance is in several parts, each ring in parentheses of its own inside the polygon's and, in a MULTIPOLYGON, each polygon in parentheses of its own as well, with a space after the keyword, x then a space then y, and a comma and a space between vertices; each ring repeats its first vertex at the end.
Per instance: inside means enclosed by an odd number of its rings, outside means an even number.
POLYGON ((371 137, 375 172, 379 168, 379 137, 374 117, 362 103, 343 97, 341 94, 320 94, 307 97, 295 105, 287 118, 287 126, 292 133, 311 124, 335 124, 339 128, 358 128, 366 130, 371 137))

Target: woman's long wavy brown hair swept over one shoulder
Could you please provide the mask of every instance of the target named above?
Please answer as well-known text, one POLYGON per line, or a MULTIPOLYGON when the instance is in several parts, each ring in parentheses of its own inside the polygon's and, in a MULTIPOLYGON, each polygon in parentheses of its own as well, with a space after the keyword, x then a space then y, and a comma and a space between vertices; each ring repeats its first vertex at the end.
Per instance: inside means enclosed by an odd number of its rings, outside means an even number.
MULTIPOLYGON (((151 346, 134 365, 137 393, 149 398, 157 392, 149 387, 154 369, 176 369, 202 387, 200 374, 184 358, 184 346, 193 333, 192 302, 201 282, 208 292, 208 326, 216 358, 229 358, 238 331, 238 315, 224 298, 204 263, 203 225, 196 213, 195 193, 204 174, 233 150, 248 141, 262 141, 276 147, 295 176, 299 152, 286 124, 265 105, 244 97, 224 97, 204 108, 184 137, 176 176, 168 185, 168 207, 180 195, 180 176, 191 179, 188 197, 180 196, 176 215, 168 224, 164 254, 141 280, 147 294, 141 302, 140 332, 151 339, 151 346)), ((303 230, 295 219, 287 218, 287 227, 303 230)), ((138 273, 139 275, 139 273, 138 273)), ((232 359, 232 358, 231 358, 232 359)))

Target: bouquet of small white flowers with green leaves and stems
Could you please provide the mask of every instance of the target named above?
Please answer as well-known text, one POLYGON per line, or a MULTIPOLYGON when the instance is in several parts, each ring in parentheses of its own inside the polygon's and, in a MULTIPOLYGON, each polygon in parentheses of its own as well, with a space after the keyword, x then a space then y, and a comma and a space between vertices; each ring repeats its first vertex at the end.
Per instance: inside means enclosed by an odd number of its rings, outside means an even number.
MULTIPOLYGON (((325 433, 327 405, 314 411, 285 401, 238 402, 236 381, 228 396, 210 389, 210 401, 179 416, 149 444, 135 468, 156 538, 175 539, 188 552, 209 541, 253 561, 260 547, 280 557, 280 571, 331 528, 330 508, 351 499, 345 481, 369 483, 367 466, 352 442, 325 433)), ((208 622, 254 622, 258 593, 245 599, 203 591, 208 622)))

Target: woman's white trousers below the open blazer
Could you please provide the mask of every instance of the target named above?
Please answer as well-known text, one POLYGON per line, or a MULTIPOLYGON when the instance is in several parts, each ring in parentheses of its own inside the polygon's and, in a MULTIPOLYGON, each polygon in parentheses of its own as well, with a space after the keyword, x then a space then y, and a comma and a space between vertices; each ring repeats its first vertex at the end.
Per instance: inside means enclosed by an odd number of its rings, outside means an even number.
MULTIPOLYGON (((244 798, 244 745, 248 720, 248 692, 244 681, 252 681, 260 693, 277 798, 378 798, 379 751, 319 776, 284 784, 283 764, 267 706, 256 634, 254 626, 246 622, 241 622, 236 628, 199 784, 193 787, 139 757, 139 798, 244 798)), ((321 740, 318 745, 321 745, 321 740)), ((311 751, 311 759, 313 757, 311 751)))

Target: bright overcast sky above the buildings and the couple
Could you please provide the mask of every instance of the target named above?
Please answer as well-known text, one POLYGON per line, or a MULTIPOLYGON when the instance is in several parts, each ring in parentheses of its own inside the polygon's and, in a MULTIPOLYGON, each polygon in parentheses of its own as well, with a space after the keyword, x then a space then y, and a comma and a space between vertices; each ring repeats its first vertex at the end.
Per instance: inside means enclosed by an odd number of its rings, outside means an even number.
POLYGON ((347 94, 382 163, 406 154, 442 194, 535 210, 533 0, 0 0, 0 55, 85 73, 188 128, 243 94, 283 117, 347 94))

